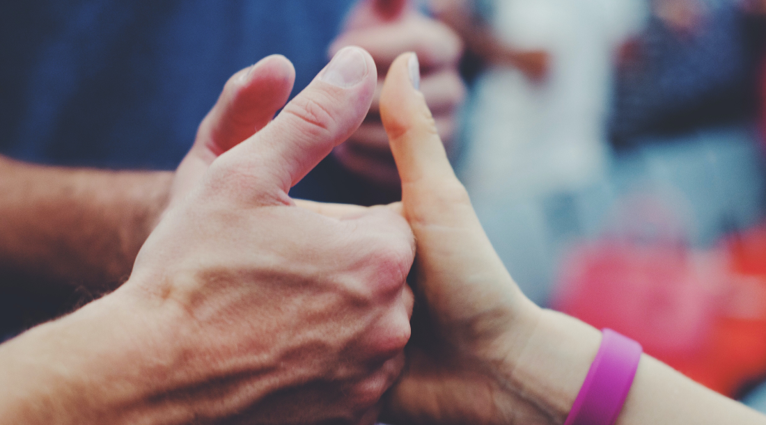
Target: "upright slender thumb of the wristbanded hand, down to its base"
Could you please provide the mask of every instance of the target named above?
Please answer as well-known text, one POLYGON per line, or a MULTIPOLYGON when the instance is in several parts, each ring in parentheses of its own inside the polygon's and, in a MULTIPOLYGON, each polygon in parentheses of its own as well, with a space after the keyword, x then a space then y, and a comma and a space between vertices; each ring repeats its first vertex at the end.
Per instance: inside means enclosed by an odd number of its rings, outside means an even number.
POLYGON ((499 316, 490 312, 515 310, 528 301, 453 172, 424 96, 416 90, 417 69, 417 56, 402 54, 388 70, 381 93, 381 120, 401 177, 402 209, 417 241, 417 289, 441 324, 470 323, 466 329, 477 332, 470 338, 485 338, 479 329, 502 328, 496 327, 499 316))

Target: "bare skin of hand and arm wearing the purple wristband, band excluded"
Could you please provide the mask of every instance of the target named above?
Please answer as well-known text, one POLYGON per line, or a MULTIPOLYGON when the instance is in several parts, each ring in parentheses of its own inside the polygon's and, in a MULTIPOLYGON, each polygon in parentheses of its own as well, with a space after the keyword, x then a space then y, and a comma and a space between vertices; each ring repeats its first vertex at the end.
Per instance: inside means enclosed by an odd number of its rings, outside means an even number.
MULTIPOLYGON (((601 333, 535 306, 513 282, 411 84, 410 57, 394 61, 381 95, 401 209, 417 241, 408 366, 383 420, 564 423, 601 333)), ((644 355, 617 423, 764 424, 766 417, 644 355)))

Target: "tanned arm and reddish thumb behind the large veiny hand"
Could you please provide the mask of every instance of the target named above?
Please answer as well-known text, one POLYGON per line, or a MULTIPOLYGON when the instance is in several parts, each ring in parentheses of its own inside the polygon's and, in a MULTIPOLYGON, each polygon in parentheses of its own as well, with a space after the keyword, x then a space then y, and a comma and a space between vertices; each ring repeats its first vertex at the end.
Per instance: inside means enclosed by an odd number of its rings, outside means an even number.
POLYGON ((185 198, 218 155, 269 123, 294 78, 292 64, 280 56, 234 74, 175 173, 45 167, 0 157, 0 291, 80 289, 100 296, 116 289, 169 205, 185 198))

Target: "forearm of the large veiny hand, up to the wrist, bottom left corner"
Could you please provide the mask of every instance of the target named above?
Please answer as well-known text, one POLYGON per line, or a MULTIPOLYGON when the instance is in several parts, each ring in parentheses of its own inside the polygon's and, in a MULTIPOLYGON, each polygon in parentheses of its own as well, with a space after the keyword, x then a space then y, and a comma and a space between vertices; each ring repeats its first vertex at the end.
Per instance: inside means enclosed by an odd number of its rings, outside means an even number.
POLYGON ((125 299, 104 297, 0 345, 0 425, 193 419, 163 397, 183 360, 167 343, 177 317, 125 299))

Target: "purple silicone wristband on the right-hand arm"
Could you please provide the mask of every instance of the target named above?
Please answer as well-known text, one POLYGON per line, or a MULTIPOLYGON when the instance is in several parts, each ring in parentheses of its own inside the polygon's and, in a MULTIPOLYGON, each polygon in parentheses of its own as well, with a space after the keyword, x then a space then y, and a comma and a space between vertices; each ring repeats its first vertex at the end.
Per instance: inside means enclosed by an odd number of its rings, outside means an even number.
POLYGON ((614 425, 641 360, 641 345, 604 329, 601 347, 564 425, 614 425))

